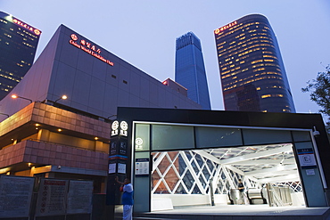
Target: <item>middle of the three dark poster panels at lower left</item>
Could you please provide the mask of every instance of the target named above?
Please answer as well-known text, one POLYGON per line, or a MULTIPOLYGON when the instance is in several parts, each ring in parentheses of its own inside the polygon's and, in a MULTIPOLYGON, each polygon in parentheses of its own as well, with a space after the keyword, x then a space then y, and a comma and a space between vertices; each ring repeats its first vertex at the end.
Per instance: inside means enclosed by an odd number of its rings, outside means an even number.
POLYGON ((68 180, 41 179, 36 216, 65 215, 68 180))

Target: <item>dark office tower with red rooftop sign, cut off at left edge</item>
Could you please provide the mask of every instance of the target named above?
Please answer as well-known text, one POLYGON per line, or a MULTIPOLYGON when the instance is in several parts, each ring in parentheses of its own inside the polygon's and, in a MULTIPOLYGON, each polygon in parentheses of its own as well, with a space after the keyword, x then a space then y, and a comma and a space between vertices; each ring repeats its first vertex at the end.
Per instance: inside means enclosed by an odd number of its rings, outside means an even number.
POLYGON ((0 12, 0 100, 32 66, 40 34, 24 21, 0 12))

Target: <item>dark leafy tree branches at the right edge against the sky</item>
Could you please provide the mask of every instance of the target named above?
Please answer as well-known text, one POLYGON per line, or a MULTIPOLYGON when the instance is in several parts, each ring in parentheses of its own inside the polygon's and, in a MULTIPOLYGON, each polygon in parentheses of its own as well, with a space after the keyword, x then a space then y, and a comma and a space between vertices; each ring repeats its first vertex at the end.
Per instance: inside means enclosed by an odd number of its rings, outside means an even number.
POLYGON ((317 102, 322 109, 319 112, 326 115, 326 129, 330 133, 330 65, 326 67, 326 71, 318 72, 316 79, 309 80, 306 87, 301 88, 303 93, 310 93, 310 100, 317 102))

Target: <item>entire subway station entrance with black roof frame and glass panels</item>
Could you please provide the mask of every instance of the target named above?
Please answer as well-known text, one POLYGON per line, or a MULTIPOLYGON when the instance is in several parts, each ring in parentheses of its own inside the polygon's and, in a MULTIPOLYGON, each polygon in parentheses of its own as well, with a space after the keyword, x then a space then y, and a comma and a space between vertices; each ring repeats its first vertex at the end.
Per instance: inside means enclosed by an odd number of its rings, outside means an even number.
POLYGON ((328 207, 317 115, 119 108, 128 123, 134 212, 328 207))

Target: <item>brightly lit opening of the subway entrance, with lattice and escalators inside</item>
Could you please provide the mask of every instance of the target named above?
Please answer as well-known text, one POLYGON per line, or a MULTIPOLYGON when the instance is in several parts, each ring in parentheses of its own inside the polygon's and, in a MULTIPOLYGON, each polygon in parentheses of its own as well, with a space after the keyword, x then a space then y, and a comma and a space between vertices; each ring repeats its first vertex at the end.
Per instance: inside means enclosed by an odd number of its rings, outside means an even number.
POLYGON ((152 154, 152 211, 218 205, 305 206, 292 144, 152 154))

